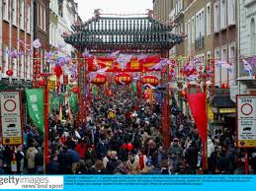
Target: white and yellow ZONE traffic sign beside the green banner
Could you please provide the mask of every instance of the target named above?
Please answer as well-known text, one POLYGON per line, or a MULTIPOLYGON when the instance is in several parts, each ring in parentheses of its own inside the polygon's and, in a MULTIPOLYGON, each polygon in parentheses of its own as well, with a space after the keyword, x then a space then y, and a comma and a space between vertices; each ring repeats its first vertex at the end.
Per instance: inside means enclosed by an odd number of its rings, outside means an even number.
POLYGON ((23 144, 20 92, 1 92, 1 138, 3 145, 23 144))

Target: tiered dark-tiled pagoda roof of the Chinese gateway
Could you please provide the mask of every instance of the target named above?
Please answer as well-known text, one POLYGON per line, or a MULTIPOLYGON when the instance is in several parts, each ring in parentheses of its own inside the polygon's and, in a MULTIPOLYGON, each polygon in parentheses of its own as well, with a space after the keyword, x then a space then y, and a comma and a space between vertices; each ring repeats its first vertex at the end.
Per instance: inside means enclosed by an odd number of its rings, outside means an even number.
POLYGON ((132 17, 95 17, 72 26, 71 34, 63 34, 66 43, 77 49, 87 47, 91 52, 161 52, 181 43, 184 34, 172 33, 173 26, 163 24, 147 14, 132 17))

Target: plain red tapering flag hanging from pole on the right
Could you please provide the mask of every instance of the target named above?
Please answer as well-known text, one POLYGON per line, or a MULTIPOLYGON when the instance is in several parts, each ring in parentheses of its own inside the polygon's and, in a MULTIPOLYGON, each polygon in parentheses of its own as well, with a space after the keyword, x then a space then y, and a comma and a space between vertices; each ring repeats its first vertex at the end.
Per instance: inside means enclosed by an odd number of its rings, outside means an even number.
POLYGON ((207 103, 206 94, 197 93, 188 95, 188 101, 192 115, 195 119, 199 135, 203 142, 207 141, 208 133, 208 117, 207 117, 207 103))

